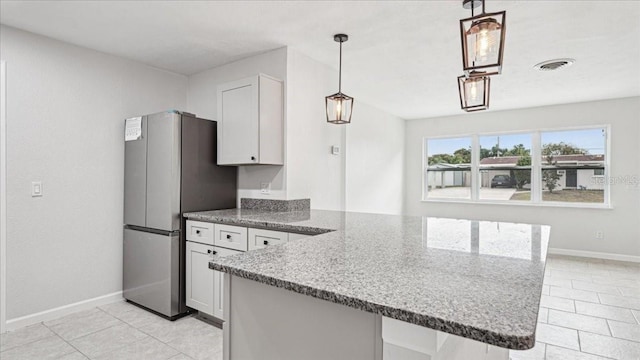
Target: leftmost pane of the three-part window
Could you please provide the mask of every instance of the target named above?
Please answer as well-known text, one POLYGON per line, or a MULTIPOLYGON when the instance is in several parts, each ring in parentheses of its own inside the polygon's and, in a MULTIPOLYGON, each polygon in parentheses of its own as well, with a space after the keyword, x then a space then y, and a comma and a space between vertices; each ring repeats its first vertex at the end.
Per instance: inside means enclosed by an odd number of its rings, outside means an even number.
POLYGON ((471 138, 426 142, 425 190, 429 199, 471 199, 471 138))

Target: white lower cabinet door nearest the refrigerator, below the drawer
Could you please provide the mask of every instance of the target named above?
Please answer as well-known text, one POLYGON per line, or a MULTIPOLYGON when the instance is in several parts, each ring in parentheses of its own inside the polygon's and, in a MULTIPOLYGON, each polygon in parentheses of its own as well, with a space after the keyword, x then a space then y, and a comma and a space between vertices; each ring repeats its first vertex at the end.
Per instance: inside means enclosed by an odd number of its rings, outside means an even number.
POLYGON ((215 315, 214 272, 209 269, 213 251, 213 246, 187 241, 187 306, 210 315, 215 315))

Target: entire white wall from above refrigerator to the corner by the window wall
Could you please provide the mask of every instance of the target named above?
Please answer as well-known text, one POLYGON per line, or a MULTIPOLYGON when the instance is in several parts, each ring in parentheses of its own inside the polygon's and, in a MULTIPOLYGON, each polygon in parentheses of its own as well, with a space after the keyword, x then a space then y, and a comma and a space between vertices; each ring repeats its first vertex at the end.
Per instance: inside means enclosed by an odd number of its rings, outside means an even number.
POLYGON ((310 198, 314 209, 402 211, 404 122, 357 101, 352 124, 328 124, 324 97, 337 90, 337 71, 294 48, 189 76, 188 111, 215 120, 218 84, 258 73, 285 81, 285 165, 240 166, 238 200, 310 198), (262 182, 271 182, 270 195, 260 193, 262 182))

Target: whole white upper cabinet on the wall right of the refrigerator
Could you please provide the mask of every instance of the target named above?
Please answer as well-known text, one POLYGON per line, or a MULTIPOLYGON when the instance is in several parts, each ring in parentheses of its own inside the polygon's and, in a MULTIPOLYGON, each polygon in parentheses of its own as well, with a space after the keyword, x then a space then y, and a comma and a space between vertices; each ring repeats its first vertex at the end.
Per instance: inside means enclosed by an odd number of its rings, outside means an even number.
POLYGON ((218 165, 283 165, 281 80, 260 74, 218 86, 218 165))

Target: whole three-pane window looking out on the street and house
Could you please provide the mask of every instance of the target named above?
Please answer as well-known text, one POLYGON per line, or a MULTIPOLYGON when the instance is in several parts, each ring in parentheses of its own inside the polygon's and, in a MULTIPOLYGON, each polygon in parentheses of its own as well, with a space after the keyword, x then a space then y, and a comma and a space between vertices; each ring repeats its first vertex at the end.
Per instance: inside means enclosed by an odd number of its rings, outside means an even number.
POLYGON ((425 139, 424 200, 607 204, 607 127, 425 139))

